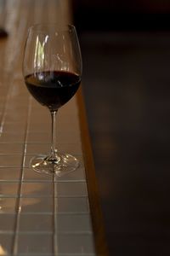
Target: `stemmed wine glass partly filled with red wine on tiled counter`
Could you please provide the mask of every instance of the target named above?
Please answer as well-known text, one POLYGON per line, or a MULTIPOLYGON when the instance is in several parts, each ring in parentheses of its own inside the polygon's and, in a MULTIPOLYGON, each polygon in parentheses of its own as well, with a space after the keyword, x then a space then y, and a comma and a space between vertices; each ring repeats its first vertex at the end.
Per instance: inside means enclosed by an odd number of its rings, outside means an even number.
POLYGON ((26 39, 23 75, 31 95, 48 108, 52 118, 51 152, 32 158, 33 170, 57 176, 76 170, 79 166, 77 158, 59 154, 55 148, 56 113, 75 95, 81 83, 82 57, 76 27, 31 26, 26 39))

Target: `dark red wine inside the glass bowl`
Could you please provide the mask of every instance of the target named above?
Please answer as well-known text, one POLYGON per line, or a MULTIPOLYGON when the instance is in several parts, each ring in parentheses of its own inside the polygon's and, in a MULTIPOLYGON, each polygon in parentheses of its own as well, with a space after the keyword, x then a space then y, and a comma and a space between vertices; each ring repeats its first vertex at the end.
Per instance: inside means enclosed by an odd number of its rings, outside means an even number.
POLYGON ((65 71, 44 71, 27 75, 25 82, 37 102, 53 111, 75 95, 81 78, 65 71))

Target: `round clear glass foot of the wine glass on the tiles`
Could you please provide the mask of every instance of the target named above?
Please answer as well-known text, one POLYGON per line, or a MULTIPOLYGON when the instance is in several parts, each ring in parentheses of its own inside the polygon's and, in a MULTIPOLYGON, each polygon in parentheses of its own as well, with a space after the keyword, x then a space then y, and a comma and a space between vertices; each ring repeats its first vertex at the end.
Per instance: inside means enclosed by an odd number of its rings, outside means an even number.
POLYGON ((41 154, 31 159, 31 167, 35 172, 55 174, 59 177, 75 171, 78 166, 79 161, 71 154, 58 154, 55 158, 41 154))

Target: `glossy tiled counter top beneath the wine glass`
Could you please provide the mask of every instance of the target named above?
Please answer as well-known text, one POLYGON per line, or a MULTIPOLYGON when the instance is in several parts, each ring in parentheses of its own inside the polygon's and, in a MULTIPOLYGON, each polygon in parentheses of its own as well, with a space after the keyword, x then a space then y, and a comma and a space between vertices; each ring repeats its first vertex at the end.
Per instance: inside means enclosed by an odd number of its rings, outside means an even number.
POLYGON ((9 36, 0 41, 0 255, 95 255, 76 98, 58 113, 57 144, 76 155, 80 167, 53 177, 29 166, 32 156, 49 151, 51 124, 48 109, 26 90, 23 43, 42 10, 56 19, 64 2, 6 1, 9 36))

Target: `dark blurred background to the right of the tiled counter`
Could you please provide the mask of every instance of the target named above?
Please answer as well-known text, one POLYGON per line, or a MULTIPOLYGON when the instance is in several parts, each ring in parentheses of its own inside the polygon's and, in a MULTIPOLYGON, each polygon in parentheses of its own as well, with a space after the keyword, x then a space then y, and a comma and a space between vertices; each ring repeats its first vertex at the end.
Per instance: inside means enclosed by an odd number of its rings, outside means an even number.
POLYGON ((72 4, 109 253, 170 255, 170 1, 72 4))

